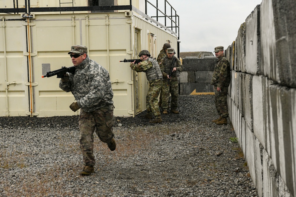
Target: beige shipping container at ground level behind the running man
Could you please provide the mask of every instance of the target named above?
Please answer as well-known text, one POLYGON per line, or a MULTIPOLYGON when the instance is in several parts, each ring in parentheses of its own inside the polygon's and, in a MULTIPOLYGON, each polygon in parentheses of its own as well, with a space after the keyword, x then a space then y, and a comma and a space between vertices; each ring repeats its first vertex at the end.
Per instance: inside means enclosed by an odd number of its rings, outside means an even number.
POLYGON ((166 42, 177 52, 176 33, 133 10, 32 16, 1 16, 0 116, 78 115, 69 108, 72 93, 59 88, 59 79, 41 78, 46 71, 73 66, 67 53, 72 45, 86 45, 90 58, 109 71, 114 115, 135 116, 146 109, 146 75, 119 61, 138 59, 144 49, 156 58, 166 42))

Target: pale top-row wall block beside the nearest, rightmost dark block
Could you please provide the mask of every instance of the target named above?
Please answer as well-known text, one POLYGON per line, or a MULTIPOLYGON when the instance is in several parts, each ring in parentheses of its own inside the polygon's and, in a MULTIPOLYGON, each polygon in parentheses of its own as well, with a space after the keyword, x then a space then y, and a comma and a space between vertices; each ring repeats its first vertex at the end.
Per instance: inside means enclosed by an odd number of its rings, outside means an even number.
POLYGON ((263 74, 261 70, 260 5, 246 19, 246 71, 263 74))

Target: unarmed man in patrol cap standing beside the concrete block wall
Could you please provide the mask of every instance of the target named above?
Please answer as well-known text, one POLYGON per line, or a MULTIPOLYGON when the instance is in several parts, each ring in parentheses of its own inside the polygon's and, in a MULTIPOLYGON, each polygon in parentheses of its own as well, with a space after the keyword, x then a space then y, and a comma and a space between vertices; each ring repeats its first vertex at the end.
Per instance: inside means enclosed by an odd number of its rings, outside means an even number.
POLYGON ((228 86, 230 84, 230 64, 226 57, 223 55, 223 46, 215 48, 215 56, 218 58, 213 72, 211 85, 215 88, 215 105, 219 114, 217 120, 213 120, 213 123, 218 125, 227 124, 228 117, 228 105, 227 105, 227 93, 228 86))

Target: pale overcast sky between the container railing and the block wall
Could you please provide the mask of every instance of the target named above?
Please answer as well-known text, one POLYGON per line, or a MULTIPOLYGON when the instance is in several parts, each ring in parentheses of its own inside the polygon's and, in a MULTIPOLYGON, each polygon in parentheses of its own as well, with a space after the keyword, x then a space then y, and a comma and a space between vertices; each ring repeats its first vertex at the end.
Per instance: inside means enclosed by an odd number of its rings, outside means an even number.
MULTIPOLYGON (((158 0, 160 4, 162 0, 158 0)), ((224 49, 262 0, 168 0, 180 17, 180 52, 224 49)))

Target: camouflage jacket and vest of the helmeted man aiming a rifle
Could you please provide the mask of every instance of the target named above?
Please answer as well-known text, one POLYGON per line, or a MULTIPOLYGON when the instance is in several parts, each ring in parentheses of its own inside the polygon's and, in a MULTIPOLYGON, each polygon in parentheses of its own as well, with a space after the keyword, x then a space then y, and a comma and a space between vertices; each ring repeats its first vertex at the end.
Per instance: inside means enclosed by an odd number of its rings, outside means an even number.
POLYGON ((148 81, 163 78, 159 64, 152 57, 147 58, 139 64, 131 63, 131 69, 137 72, 145 72, 148 81))

